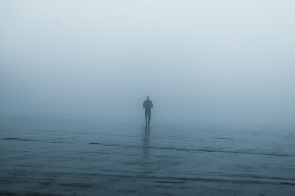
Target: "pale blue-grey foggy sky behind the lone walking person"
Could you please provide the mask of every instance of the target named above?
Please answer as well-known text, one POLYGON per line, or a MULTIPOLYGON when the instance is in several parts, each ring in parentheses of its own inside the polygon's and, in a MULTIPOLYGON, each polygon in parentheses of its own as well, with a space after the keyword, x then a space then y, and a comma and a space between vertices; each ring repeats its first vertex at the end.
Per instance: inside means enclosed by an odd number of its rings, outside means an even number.
POLYGON ((294 125, 294 0, 1 0, 0 114, 294 125))

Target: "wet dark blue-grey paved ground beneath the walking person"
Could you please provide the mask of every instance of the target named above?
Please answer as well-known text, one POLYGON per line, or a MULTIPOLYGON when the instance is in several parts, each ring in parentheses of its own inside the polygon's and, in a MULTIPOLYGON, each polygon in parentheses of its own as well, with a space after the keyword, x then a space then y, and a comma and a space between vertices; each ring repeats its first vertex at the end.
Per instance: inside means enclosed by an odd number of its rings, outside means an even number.
POLYGON ((295 130, 0 118, 0 195, 294 196, 295 130))

